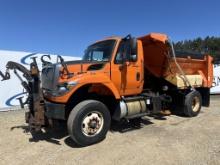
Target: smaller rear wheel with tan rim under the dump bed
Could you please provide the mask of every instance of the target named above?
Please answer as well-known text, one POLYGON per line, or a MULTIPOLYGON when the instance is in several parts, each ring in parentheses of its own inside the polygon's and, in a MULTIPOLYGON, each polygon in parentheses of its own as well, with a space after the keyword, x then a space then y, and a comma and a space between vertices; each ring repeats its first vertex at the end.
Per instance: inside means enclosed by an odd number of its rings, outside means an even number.
POLYGON ((195 117, 202 106, 202 97, 198 91, 192 91, 185 96, 184 114, 187 117, 195 117))

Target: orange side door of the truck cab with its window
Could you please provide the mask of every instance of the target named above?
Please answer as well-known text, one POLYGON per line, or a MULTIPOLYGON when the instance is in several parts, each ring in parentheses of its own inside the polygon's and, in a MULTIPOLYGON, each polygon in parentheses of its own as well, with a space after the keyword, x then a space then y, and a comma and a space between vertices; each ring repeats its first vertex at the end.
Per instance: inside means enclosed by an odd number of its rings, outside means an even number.
POLYGON ((124 96, 139 94, 143 88, 143 57, 138 56, 136 51, 136 59, 131 60, 131 47, 125 44, 123 41, 119 44, 111 67, 112 81, 124 96))

